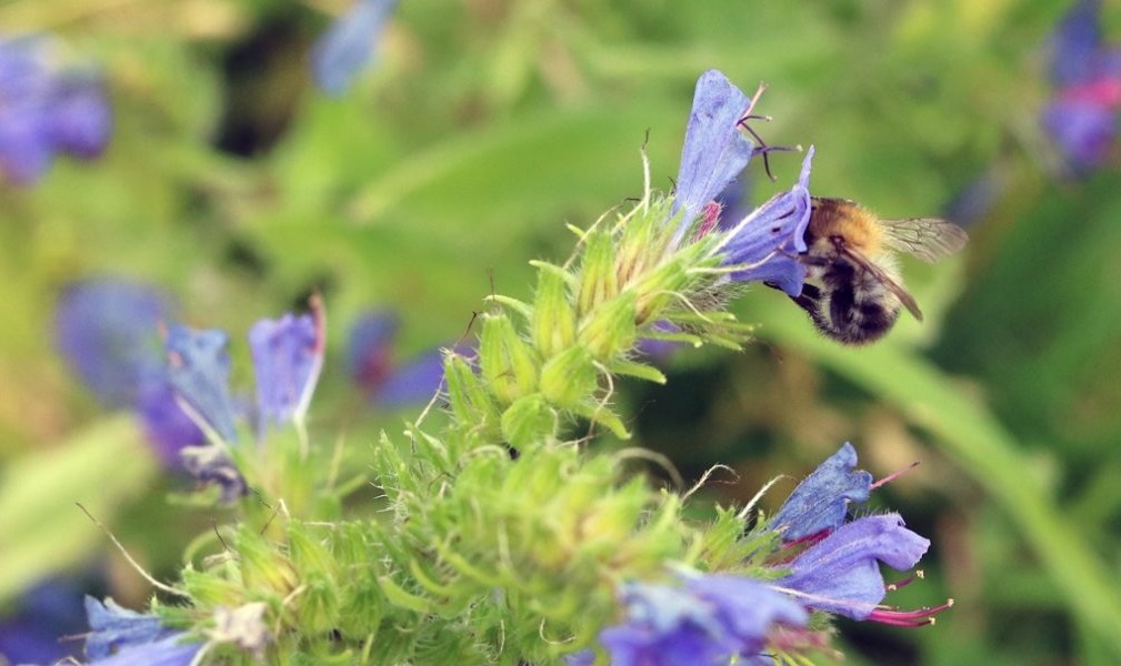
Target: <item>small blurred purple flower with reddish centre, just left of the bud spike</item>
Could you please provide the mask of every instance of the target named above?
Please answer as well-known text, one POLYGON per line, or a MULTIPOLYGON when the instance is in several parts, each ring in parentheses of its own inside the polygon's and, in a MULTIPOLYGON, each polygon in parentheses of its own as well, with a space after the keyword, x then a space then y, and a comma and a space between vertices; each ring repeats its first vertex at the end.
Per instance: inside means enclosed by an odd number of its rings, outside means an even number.
POLYGON ((351 327, 346 345, 346 369, 371 402, 399 406, 426 401, 444 382, 444 358, 438 350, 427 351, 396 364, 392 340, 397 319, 387 311, 371 311, 351 327))

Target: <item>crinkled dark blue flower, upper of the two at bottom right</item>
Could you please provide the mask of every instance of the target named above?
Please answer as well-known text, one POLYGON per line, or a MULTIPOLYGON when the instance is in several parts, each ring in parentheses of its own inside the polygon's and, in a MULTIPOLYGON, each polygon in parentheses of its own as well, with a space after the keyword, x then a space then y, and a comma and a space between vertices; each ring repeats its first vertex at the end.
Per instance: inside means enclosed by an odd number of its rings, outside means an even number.
POLYGON ((782 541, 798 541, 844 524, 849 504, 868 501, 872 475, 855 470, 856 450, 845 442, 794 489, 771 518, 782 541))

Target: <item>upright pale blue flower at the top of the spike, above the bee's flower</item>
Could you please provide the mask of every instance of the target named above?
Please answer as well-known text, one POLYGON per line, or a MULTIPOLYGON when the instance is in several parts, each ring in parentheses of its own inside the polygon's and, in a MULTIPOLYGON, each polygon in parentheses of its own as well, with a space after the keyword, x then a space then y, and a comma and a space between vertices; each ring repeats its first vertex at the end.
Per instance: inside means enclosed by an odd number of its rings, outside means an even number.
POLYGON ((704 205, 748 166, 753 146, 738 123, 750 104, 751 100, 715 69, 697 79, 670 209, 680 214, 674 244, 685 237, 704 205))

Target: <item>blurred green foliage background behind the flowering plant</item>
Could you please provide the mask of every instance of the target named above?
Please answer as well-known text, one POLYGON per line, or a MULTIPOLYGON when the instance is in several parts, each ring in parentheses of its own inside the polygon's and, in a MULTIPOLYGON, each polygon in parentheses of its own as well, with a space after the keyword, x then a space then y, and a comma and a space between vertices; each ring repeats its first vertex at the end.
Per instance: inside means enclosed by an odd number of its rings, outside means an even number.
MULTIPOLYGON (((313 420, 360 457, 416 410, 349 385, 348 326, 392 308, 405 358, 464 335, 492 291, 528 296, 527 262, 567 256, 566 223, 641 195, 643 142, 655 186, 671 187, 693 84, 715 67, 748 92, 768 84, 773 121, 753 126, 769 143, 816 146, 815 195, 886 217, 962 210, 947 207, 979 187, 986 205, 958 219, 966 256, 905 263, 925 323, 843 348, 756 289, 736 308, 758 344, 682 350, 667 386, 626 386, 633 443, 686 484, 729 465, 738 476, 706 487, 724 504, 845 440, 877 477, 921 460, 872 500, 934 542, 926 581, 889 601, 956 606, 923 629, 841 621, 849 663, 1121 663, 1121 177, 1057 178, 1039 130, 1043 46, 1065 3, 404 0, 378 63, 332 99, 307 50, 344 6, 0 4, 3 30, 55 32, 98 64, 115 119, 101 160, 62 160, 0 197, 0 609, 91 567, 108 571, 102 593, 143 602, 74 501, 163 575, 221 518, 169 504, 182 480, 67 373, 50 344, 64 284, 160 285, 188 323, 231 331, 245 388, 243 331, 321 290, 313 420)), ((749 169, 756 203, 800 157, 771 162, 773 184, 749 169)))

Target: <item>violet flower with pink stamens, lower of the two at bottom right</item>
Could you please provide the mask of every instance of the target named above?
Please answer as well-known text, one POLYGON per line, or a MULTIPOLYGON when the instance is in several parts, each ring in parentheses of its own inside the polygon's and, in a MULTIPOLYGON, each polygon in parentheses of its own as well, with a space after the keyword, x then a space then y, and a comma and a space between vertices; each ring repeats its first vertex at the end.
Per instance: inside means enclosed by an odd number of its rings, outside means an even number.
POLYGON ((907 571, 929 545, 907 529, 898 514, 868 516, 806 548, 775 585, 796 593, 810 608, 867 620, 887 594, 879 563, 907 571))

